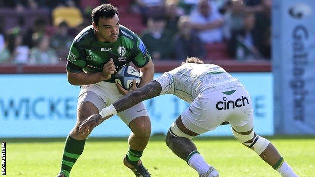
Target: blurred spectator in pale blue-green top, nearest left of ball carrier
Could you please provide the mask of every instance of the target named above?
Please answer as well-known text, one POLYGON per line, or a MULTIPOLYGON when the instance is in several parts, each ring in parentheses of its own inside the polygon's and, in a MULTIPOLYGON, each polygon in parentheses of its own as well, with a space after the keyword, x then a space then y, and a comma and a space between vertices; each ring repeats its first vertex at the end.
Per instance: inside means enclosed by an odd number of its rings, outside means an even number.
POLYGON ((54 49, 49 47, 48 36, 42 36, 37 39, 36 46, 31 49, 30 64, 57 64, 58 58, 54 49))

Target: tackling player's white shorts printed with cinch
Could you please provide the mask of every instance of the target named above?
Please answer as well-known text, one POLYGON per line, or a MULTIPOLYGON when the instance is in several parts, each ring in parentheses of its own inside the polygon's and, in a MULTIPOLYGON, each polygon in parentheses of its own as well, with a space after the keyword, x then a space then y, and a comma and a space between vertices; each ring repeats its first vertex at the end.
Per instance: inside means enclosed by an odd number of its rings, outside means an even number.
POLYGON ((252 102, 243 87, 207 92, 195 98, 181 118, 185 127, 197 134, 214 130, 225 121, 231 126, 242 127, 253 122, 252 102))

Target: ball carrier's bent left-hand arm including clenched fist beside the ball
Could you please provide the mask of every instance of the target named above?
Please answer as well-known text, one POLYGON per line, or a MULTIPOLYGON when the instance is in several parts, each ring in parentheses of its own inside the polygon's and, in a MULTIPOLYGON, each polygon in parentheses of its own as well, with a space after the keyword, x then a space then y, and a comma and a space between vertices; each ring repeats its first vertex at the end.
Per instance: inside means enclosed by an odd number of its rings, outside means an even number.
MULTIPOLYGON (((84 72, 82 69, 79 72, 71 72, 74 70, 69 70, 69 65, 74 65, 68 62, 67 64, 67 78, 72 85, 89 85, 96 84, 100 81, 107 80, 111 78, 111 75, 116 73, 116 68, 114 62, 111 58, 106 64, 104 64, 103 70, 101 72, 90 73, 84 72)), ((72 66, 74 67, 74 66, 72 66)))

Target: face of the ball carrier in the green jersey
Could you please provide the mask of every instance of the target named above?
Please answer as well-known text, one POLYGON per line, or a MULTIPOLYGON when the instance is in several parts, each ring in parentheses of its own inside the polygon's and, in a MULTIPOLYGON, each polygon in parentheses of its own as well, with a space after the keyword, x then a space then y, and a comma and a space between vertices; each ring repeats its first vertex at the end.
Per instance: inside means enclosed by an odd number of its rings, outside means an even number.
POLYGON ((116 42, 119 33, 119 18, 117 14, 111 19, 100 18, 98 25, 93 23, 97 37, 102 42, 116 42))

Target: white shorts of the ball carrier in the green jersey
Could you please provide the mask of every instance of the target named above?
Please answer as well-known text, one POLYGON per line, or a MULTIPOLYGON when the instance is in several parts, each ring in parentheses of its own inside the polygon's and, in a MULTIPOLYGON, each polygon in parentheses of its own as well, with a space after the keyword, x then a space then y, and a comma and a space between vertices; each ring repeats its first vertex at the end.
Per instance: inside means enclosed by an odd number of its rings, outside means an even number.
MULTIPOLYGON (((78 107, 80 103, 91 102, 99 110, 111 105, 117 99, 122 97, 116 88, 115 83, 99 82, 97 84, 83 85, 78 98, 78 107)), ((124 123, 129 126, 129 123, 140 116, 149 116, 143 102, 126 109, 117 114, 124 123)))

